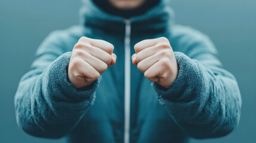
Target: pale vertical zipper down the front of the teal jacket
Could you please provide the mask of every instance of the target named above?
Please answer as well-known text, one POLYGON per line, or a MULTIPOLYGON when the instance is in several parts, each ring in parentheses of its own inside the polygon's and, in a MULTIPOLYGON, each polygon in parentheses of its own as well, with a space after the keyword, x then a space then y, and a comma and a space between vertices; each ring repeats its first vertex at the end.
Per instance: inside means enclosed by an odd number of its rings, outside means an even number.
POLYGON ((129 122, 131 106, 131 21, 125 19, 125 121, 124 143, 129 143, 129 122))

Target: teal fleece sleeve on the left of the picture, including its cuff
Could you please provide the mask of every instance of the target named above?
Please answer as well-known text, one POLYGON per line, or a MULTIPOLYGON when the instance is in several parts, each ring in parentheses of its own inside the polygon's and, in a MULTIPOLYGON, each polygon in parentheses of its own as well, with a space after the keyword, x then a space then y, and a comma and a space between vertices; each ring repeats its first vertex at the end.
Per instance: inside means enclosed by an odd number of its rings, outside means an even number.
POLYGON ((95 99, 98 80, 80 89, 67 80, 72 52, 64 49, 60 34, 55 32, 42 43, 32 69, 21 78, 14 98, 18 126, 33 136, 66 135, 95 99))

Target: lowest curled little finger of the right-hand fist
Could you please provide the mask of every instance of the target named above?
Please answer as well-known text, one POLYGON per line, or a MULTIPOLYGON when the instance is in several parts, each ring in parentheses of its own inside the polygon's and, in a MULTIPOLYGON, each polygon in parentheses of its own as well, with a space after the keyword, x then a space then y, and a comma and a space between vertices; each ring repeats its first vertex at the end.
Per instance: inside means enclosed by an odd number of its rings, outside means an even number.
POLYGON ((164 68, 161 66, 159 62, 153 64, 153 66, 149 67, 144 72, 144 76, 149 79, 151 82, 158 82, 159 81, 159 75, 161 75, 164 72, 164 68))

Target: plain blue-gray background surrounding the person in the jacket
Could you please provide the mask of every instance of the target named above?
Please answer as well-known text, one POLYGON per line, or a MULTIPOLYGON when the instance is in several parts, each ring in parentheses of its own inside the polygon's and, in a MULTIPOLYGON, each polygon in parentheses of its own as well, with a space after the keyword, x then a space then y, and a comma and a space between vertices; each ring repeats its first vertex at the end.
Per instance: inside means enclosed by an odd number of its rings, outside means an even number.
MULTIPOLYGON (((212 39, 224 67, 237 78, 242 94, 238 128, 223 138, 192 142, 255 142, 256 1, 172 0, 176 22, 201 30, 212 39)), ((13 99, 20 77, 35 51, 53 30, 78 24, 80 0, 0 1, 0 142, 65 142, 41 139, 18 128, 13 99)))

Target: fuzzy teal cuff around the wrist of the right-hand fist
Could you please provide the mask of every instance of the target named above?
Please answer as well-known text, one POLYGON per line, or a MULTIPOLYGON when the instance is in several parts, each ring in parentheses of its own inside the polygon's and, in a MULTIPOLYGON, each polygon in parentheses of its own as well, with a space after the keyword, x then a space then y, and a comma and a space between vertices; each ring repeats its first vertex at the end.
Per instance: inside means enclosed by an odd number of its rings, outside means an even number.
POLYGON ((158 83, 153 83, 153 88, 158 93, 159 98, 167 98, 168 100, 177 101, 181 100, 183 93, 188 88, 193 89, 191 86, 196 86, 197 81, 200 80, 202 75, 198 68, 198 61, 192 60, 187 55, 181 52, 174 52, 174 56, 178 64, 178 76, 177 79, 172 83, 170 88, 164 88, 158 83))

